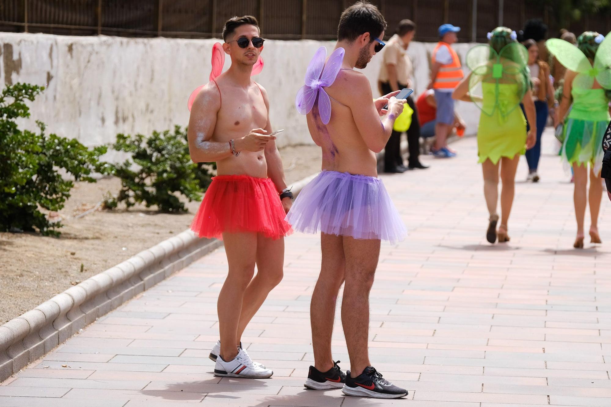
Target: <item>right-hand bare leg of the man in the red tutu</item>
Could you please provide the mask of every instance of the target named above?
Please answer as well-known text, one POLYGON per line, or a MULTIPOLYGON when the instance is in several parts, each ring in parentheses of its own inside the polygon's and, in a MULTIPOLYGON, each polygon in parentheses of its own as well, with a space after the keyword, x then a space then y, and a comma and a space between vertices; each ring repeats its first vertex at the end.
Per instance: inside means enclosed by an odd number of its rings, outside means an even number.
MULTIPOLYGON (((238 323, 236 345, 240 340, 246 326, 252 317, 261 308, 269 292, 282 281, 284 270, 284 238, 269 239, 258 234, 257 236, 257 275, 248 284, 244 292, 244 303, 238 323)), ((222 343, 222 342, 221 342, 222 343)))

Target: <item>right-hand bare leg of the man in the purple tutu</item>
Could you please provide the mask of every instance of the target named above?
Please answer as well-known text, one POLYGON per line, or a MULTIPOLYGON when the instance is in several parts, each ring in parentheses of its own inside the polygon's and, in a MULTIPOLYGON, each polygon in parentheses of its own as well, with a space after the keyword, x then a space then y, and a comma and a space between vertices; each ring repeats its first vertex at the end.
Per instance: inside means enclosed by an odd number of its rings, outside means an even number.
POLYGON ((369 292, 378 267, 380 241, 343 237, 346 282, 342 300, 342 325, 350 356, 350 376, 371 366, 369 361, 369 292))

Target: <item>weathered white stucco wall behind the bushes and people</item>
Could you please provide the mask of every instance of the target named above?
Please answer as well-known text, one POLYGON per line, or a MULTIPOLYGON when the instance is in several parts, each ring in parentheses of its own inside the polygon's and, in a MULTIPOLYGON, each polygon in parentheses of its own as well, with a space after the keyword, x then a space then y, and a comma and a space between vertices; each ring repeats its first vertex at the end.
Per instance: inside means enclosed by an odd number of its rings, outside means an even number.
MULTIPOLYGON (((150 134, 153 130, 185 126, 186 107, 194 88, 208 81, 210 53, 218 40, 172 38, 69 37, 46 34, 0 33, 0 83, 29 82, 48 88, 32 103, 32 119, 49 132, 76 137, 93 146, 110 143, 119 132, 150 134)), ((296 111, 295 93, 305 68, 321 45, 332 41, 265 43, 265 68, 256 80, 269 93, 274 128, 286 131, 279 145, 312 143, 305 118, 296 111)), ((434 44, 412 43, 415 93, 428 84, 428 59, 434 44)), ((469 44, 456 45, 464 60, 469 44)), ((364 73, 378 95, 381 57, 373 57, 364 73)), ((225 68, 230 60, 225 60, 225 68)), ((477 126, 478 110, 459 103, 469 132, 477 126)), ((29 125, 34 123, 29 120, 29 125)))

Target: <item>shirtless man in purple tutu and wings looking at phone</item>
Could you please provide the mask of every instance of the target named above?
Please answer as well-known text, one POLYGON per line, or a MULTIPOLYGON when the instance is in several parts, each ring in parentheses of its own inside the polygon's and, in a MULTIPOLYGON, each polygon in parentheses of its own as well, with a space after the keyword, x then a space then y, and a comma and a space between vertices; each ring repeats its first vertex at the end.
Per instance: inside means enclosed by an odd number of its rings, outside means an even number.
POLYGON ((367 77, 353 70, 365 68, 381 51, 385 29, 374 5, 357 2, 342 13, 329 59, 321 47, 310 62, 296 107, 307 114, 312 139, 323 150, 322 172, 301 191, 287 220, 296 230, 322 232, 323 261, 310 304, 315 362, 305 387, 342 387, 347 395, 398 398, 408 392, 371 366, 367 340, 380 241, 394 243, 406 236, 376 170, 376 153, 386 145, 403 101, 393 97, 397 92, 373 101, 367 77), (382 109, 387 103, 387 110, 382 109), (331 355, 342 283, 342 325, 351 368, 346 374, 331 355))

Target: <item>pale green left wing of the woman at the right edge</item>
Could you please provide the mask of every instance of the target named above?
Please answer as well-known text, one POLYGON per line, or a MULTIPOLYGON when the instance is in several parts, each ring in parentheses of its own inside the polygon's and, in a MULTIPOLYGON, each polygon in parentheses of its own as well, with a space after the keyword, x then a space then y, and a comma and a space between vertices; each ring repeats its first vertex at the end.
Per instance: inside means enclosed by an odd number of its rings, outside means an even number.
MULTIPOLYGON (((592 64, 579 48, 565 40, 551 38, 546 41, 547 50, 556 57, 558 62, 571 71, 577 72, 573 86, 591 89, 594 84, 595 71, 592 64)), ((598 51, 596 52, 598 55, 598 51)))

